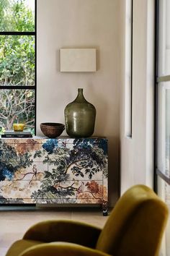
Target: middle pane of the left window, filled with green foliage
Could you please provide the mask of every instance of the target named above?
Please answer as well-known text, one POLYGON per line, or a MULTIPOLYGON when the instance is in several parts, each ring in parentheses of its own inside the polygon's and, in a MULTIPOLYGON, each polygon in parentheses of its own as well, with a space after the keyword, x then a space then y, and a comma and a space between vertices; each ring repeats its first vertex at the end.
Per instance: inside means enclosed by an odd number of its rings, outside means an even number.
POLYGON ((35 85, 34 35, 0 35, 0 85, 35 85))

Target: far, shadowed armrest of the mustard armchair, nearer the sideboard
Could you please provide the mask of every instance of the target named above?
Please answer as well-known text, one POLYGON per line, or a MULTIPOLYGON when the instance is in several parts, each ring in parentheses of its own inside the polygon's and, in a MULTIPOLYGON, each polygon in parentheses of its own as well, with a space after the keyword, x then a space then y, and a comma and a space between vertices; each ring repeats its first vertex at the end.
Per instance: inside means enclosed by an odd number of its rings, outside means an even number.
POLYGON ((71 242, 94 248, 102 229, 77 221, 42 221, 32 226, 23 239, 41 242, 71 242))

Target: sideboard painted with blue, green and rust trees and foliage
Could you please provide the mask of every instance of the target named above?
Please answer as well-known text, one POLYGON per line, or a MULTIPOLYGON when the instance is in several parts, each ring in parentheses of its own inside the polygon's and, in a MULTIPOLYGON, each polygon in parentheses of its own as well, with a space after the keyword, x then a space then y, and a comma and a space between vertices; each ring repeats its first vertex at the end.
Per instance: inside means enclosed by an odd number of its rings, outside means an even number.
POLYGON ((107 201, 106 138, 0 139, 1 204, 107 201))

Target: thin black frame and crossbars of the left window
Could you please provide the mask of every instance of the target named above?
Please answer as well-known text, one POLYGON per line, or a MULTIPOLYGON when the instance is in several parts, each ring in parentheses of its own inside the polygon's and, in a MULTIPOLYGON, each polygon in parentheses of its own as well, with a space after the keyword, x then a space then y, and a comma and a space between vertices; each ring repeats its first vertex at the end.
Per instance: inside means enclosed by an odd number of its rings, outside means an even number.
POLYGON ((34 90, 35 91, 35 135, 37 121, 37 0, 35 1, 35 31, 0 31, 1 35, 33 35, 35 37, 35 85, 1 85, 0 90, 34 90))

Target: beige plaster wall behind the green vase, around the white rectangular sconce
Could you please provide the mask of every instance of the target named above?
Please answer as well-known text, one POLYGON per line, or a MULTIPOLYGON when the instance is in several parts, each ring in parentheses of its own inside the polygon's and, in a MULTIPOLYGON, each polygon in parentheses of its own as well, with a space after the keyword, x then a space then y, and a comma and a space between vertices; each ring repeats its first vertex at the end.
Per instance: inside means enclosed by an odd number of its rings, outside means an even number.
MULTIPOLYGON (((37 0, 37 135, 84 88, 97 108, 94 135, 109 139, 109 202, 118 192, 120 138, 120 0, 37 0), (59 72, 60 48, 97 48, 97 72, 59 72)), ((66 135, 66 132, 63 133, 66 135)))

